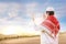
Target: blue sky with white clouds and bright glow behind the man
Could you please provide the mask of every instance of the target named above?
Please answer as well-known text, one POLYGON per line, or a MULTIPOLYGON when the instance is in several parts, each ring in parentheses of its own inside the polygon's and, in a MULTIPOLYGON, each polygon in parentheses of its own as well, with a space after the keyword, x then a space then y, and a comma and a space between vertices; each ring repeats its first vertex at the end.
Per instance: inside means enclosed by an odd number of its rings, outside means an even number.
POLYGON ((66 0, 0 0, 0 33, 35 33, 32 18, 40 24, 47 7, 55 9, 61 31, 66 31, 66 0))

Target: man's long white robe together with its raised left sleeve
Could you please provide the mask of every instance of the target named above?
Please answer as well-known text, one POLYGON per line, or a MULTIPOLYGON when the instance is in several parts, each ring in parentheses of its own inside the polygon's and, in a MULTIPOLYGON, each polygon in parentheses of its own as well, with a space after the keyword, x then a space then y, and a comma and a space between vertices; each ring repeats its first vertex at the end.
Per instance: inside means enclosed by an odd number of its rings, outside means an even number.
POLYGON ((51 34, 54 36, 54 38, 52 38, 47 33, 42 33, 42 30, 45 30, 51 33, 46 28, 42 25, 36 25, 35 29, 37 31, 41 31, 41 44, 58 44, 58 35, 55 37, 53 34, 51 34))

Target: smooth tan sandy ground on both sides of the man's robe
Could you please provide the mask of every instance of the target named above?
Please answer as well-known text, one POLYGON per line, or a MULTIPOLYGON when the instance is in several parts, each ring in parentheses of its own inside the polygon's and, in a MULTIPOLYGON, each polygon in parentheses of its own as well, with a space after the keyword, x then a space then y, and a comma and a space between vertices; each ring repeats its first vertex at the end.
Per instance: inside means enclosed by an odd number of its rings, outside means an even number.
MULTIPOLYGON (((0 44, 40 44, 40 36, 4 40, 0 44)), ((59 44, 66 44, 66 34, 59 35, 59 44)))

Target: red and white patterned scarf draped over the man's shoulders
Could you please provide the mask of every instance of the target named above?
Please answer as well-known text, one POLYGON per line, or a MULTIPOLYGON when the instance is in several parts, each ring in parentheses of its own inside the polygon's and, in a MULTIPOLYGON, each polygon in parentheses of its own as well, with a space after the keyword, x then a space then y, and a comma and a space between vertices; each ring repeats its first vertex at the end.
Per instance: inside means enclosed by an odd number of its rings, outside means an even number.
POLYGON ((59 31, 59 23, 54 15, 50 15, 45 21, 42 22, 42 25, 47 28, 55 36, 59 31))

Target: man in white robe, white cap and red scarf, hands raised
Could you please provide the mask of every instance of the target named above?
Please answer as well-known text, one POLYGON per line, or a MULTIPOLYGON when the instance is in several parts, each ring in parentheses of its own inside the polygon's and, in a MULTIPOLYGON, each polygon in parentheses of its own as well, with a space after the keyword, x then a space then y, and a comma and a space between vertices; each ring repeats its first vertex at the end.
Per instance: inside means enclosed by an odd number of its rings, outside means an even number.
POLYGON ((41 31, 41 44, 58 44, 59 23, 54 14, 54 9, 47 8, 44 14, 45 20, 38 26, 35 26, 41 31))

